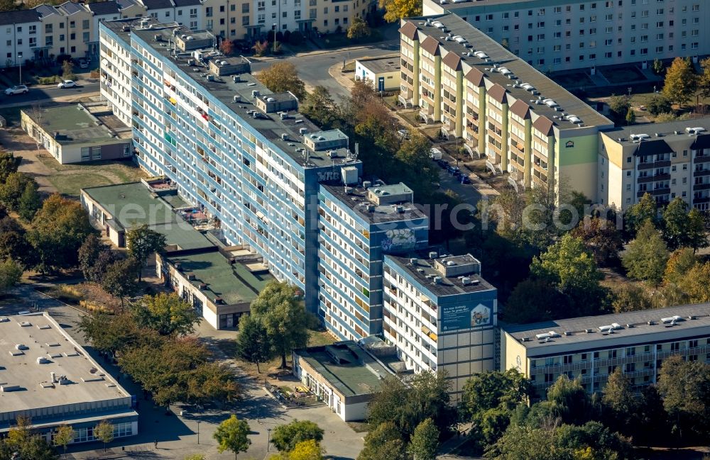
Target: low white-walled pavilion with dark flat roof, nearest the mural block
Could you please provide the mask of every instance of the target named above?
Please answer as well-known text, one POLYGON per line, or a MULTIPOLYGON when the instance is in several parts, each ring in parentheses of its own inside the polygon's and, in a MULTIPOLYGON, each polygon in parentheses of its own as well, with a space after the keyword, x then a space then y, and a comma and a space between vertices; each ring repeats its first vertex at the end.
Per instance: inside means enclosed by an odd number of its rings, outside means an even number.
POLYGON ((393 373, 356 342, 346 340, 294 350, 293 375, 349 422, 367 418, 368 403, 383 378, 393 373))

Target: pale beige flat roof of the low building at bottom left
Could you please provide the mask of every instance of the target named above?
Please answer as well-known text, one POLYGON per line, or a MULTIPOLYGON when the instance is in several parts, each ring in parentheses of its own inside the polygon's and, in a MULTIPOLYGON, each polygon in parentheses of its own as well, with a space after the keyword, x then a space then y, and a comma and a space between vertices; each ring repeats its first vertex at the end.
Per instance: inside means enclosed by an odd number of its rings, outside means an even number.
POLYGON ((0 387, 0 413, 130 397, 48 313, 0 315, 0 387))

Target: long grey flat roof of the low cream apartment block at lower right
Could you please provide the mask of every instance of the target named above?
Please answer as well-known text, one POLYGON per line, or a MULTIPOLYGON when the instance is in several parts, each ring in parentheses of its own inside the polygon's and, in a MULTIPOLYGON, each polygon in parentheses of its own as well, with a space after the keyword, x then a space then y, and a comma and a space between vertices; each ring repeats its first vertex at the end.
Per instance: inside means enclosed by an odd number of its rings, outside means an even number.
POLYGON ((663 340, 663 335, 707 335, 710 331, 710 303, 550 320, 527 325, 501 324, 501 327, 525 348, 534 349, 535 352, 544 352, 546 348, 555 345, 584 344, 601 340, 615 344, 620 341, 634 344, 644 335, 648 336, 648 342, 654 342, 663 340))

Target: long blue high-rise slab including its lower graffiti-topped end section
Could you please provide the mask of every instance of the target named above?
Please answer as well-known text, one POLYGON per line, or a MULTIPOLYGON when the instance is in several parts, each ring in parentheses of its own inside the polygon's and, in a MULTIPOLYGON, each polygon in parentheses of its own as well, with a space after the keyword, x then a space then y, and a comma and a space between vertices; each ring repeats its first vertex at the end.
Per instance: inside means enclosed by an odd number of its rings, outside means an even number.
POLYGON ((427 246, 427 216, 404 184, 363 180, 344 133, 214 44, 152 18, 102 24, 102 95, 133 126, 138 164, 300 288, 334 335, 381 333, 383 254, 427 246))

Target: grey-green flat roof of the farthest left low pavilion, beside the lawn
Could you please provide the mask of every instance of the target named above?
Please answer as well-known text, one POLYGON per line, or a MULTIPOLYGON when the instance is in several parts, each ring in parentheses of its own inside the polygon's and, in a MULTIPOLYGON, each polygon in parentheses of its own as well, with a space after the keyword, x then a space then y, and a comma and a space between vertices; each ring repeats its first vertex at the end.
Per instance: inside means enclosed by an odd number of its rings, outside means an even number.
POLYGON ((76 105, 41 108, 41 116, 32 110, 23 111, 47 133, 58 132, 63 138, 56 139, 61 145, 87 142, 128 142, 126 139, 112 138, 111 131, 104 125, 97 126, 95 119, 89 116, 86 109, 80 110, 76 105))

